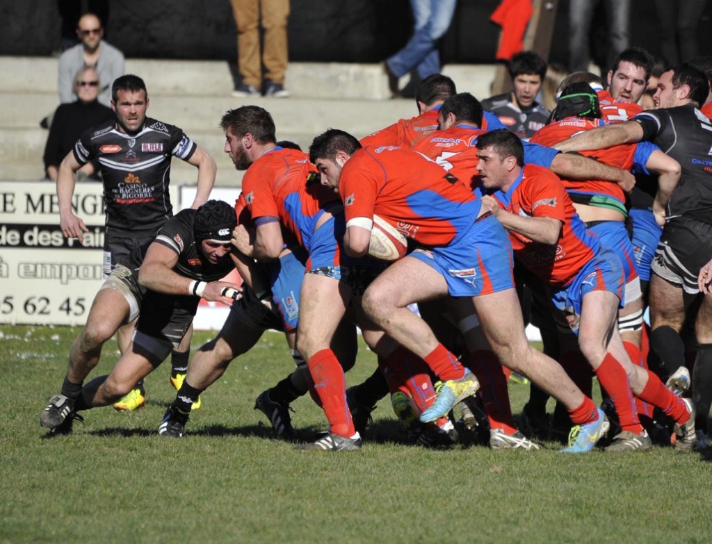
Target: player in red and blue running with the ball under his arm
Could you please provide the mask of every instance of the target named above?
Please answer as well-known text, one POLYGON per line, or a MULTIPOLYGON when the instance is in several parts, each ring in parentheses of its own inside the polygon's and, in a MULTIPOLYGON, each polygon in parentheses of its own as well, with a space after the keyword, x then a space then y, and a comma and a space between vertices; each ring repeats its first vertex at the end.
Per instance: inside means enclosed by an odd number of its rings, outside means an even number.
POLYGON ((338 188, 342 196, 347 252, 367 252, 374 213, 419 244, 370 284, 362 304, 375 324, 444 378, 421 420, 446 413, 477 388, 474 376, 456 364, 429 326, 408 309, 414 302, 449 295, 449 309, 464 325, 466 342, 473 340, 469 323, 476 313, 501 362, 540 383, 569 408, 578 427, 565 451, 590 451, 607 420, 555 361, 529 345, 507 235, 482 213, 471 189, 420 154, 397 147, 362 149, 357 139, 335 129, 315 138, 310 157, 322 183, 338 188))

